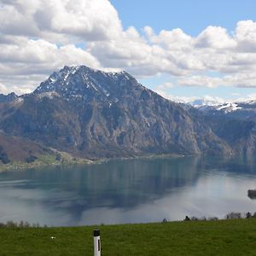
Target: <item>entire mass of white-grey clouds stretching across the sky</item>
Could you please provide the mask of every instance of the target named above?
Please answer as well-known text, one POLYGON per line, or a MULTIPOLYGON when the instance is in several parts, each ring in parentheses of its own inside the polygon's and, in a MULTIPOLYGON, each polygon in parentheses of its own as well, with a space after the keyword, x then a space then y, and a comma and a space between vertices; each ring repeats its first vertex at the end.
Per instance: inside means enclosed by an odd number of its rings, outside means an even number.
POLYGON ((33 90, 56 69, 81 64, 137 78, 167 73, 183 86, 256 87, 253 20, 239 21, 233 33, 208 26, 192 37, 180 28, 124 30, 108 0, 2 0, 0 45, 2 91, 33 90))

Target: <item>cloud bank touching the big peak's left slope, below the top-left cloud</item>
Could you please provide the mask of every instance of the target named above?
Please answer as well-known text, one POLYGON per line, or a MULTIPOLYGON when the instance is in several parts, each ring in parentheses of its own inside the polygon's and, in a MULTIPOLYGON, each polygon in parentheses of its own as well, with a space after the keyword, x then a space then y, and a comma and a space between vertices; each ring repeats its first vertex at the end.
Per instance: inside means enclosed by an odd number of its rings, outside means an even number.
POLYGON ((56 44, 38 39, 20 39, 16 44, 5 44, 0 53, 0 83, 18 94, 35 89, 50 73, 65 65, 75 66, 86 63, 100 67, 93 55, 73 44, 58 47, 56 44))

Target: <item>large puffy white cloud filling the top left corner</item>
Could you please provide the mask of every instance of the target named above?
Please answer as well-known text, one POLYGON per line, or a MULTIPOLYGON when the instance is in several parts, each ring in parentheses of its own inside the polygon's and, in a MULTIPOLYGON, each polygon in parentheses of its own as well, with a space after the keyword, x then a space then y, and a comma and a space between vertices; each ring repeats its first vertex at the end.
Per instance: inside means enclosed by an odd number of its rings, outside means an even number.
POLYGON ((91 41, 117 38, 122 26, 108 0, 16 0, 0 4, 0 32, 91 41))

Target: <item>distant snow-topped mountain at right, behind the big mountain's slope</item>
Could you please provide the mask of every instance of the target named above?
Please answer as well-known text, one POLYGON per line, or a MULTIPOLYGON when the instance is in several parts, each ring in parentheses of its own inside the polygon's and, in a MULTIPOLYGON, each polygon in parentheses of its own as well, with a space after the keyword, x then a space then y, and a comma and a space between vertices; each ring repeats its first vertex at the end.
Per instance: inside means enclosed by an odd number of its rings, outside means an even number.
POLYGON ((236 154, 253 156, 256 153, 256 102, 224 103, 202 106, 189 112, 207 123, 212 131, 233 148, 236 154))

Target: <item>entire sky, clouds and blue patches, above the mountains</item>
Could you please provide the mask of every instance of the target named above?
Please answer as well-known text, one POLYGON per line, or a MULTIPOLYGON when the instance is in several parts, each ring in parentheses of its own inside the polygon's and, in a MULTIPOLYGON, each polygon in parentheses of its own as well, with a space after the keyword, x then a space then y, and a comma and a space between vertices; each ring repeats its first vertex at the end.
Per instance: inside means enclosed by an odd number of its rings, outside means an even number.
POLYGON ((0 0, 0 49, 0 93, 86 65, 177 101, 256 99, 254 0, 0 0))

